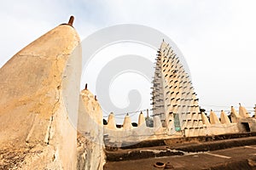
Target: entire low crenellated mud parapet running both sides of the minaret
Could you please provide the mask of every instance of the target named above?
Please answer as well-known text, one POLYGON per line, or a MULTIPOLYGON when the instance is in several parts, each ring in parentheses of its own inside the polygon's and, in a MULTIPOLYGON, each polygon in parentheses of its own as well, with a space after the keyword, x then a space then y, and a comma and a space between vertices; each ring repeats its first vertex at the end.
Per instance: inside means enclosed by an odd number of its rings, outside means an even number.
POLYGON ((108 124, 104 126, 104 140, 108 147, 121 147, 128 144, 136 144, 148 139, 170 139, 180 137, 214 136, 227 133, 246 133, 247 123, 250 132, 256 132, 256 119, 248 117, 247 111, 240 105, 239 114, 231 107, 231 118, 236 122, 230 122, 230 118, 221 112, 220 118, 211 111, 210 120, 205 113, 199 114, 201 121, 186 123, 181 132, 170 133, 167 127, 162 127, 159 116, 154 116, 154 127, 147 127, 143 113, 138 117, 137 127, 131 124, 130 116, 125 116, 122 127, 116 127, 113 113, 108 116, 108 124))

